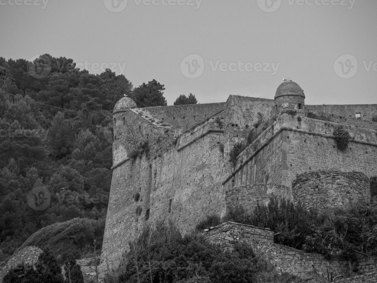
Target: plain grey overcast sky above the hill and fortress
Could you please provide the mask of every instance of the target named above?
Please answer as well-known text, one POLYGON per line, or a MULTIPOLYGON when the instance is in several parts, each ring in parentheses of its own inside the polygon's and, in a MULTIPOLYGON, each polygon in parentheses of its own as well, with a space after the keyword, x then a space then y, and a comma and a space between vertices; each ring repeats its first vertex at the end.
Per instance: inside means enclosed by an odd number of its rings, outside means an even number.
POLYGON ((376 12, 376 0, 0 0, 0 56, 108 65, 164 84, 168 105, 273 98, 288 77, 306 104, 377 104, 376 12))

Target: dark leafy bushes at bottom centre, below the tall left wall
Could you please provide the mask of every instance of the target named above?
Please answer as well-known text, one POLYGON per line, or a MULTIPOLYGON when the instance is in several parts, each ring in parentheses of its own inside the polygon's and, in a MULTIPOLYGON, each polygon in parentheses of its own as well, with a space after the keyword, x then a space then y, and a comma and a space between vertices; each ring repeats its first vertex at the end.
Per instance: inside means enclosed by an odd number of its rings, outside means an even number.
POLYGON ((232 253, 224 253, 198 235, 182 237, 172 223, 145 228, 129 246, 120 269, 112 272, 117 276, 107 275, 106 282, 302 282, 291 274, 279 275, 246 243, 235 243, 232 253))

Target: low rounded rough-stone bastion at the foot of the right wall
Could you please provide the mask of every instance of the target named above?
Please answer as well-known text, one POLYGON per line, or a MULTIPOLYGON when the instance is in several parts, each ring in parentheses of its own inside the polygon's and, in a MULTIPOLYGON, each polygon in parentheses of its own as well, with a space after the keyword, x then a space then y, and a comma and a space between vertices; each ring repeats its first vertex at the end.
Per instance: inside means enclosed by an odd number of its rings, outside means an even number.
POLYGON ((334 208, 367 200, 369 178, 362 172, 336 170, 305 172, 292 182, 294 203, 305 208, 334 208))

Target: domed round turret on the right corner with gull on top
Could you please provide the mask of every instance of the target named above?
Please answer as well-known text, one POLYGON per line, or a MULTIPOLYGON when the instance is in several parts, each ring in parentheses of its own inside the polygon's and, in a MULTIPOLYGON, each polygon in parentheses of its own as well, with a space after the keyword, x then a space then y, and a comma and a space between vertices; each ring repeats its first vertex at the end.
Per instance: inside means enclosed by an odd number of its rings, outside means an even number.
POLYGON ((303 112, 305 108, 305 94, 300 86, 292 80, 284 80, 276 90, 276 110, 296 110, 303 112))

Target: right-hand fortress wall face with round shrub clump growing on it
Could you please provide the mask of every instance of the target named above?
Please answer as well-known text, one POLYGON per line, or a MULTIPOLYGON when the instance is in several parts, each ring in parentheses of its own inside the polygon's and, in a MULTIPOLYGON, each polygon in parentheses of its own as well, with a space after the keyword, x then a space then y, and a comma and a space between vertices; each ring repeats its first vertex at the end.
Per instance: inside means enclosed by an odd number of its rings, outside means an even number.
POLYGON ((337 123, 283 114, 279 127, 282 134, 282 183, 290 186, 297 174, 316 170, 360 171, 368 177, 377 175, 377 131, 344 126, 352 139, 348 149, 340 151, 331 138, 337 123), (300 132, 301 131, 301 132, 300 132), (358 143, 356 141, 362 141, 358 143))

